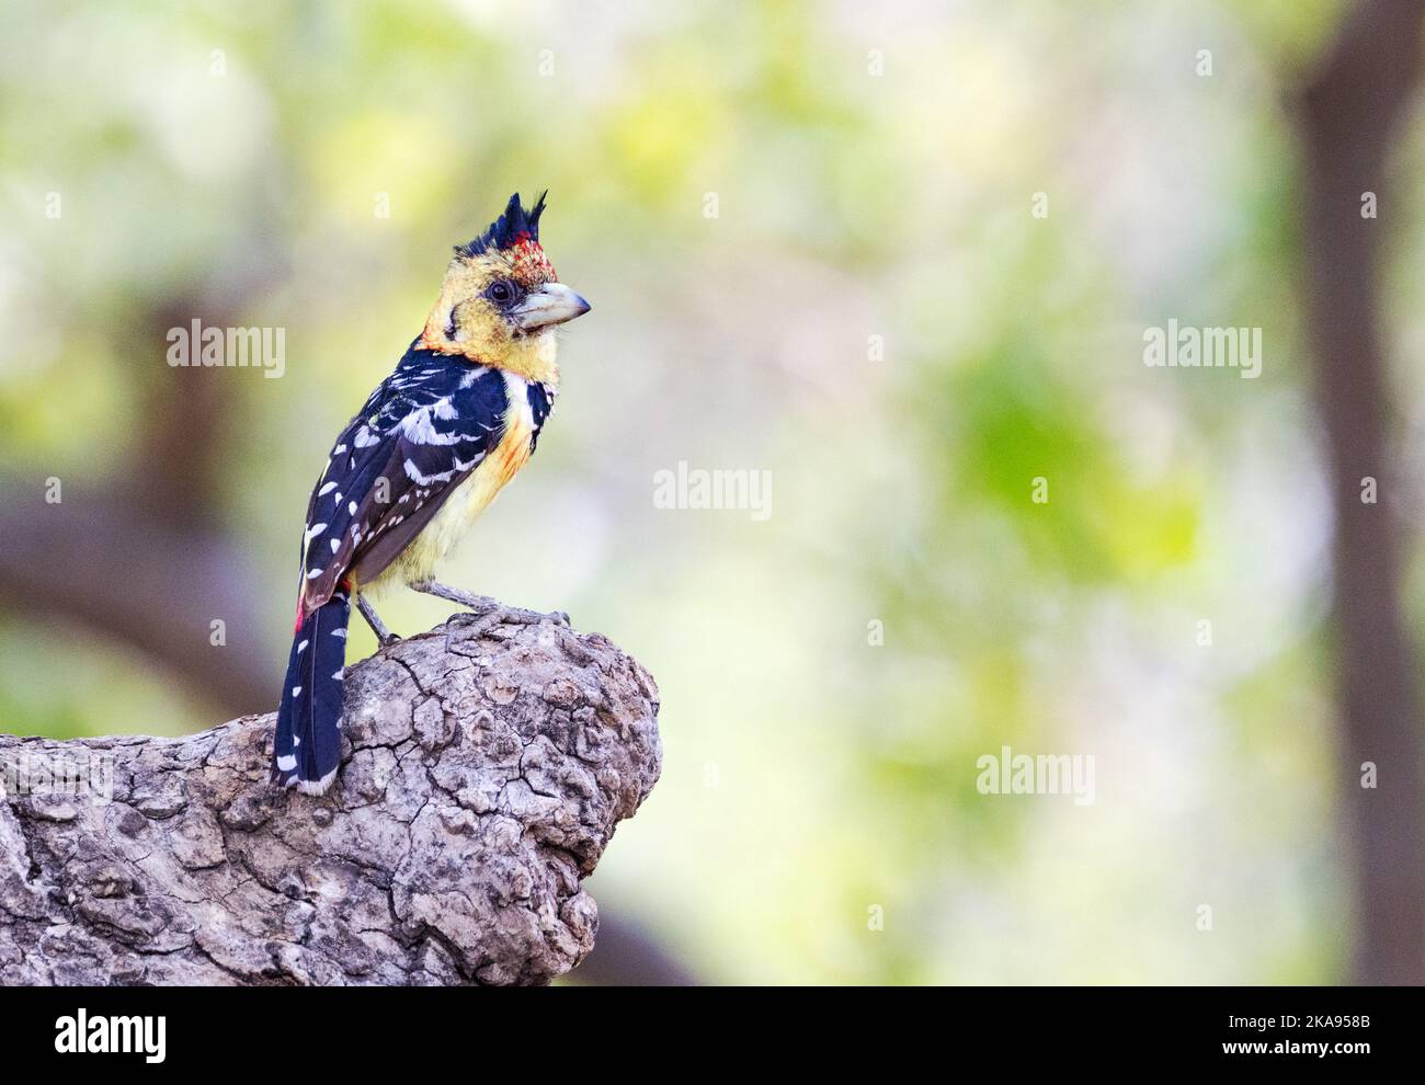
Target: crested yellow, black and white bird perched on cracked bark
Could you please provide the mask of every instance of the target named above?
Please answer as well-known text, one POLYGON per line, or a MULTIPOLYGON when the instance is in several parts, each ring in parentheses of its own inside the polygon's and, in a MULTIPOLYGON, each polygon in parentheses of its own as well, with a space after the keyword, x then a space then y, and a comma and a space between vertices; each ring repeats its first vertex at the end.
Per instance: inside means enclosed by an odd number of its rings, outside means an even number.
POLYGON ((590 305, 540 243, 546 191, 465 245, 420 335, 332 444, 306 507, 296 625, 272 740, 274 785, 322 795, 341 762, 351 605, 405 585, 469 607, 436 564, 534 453, 559 390, 554 329, 590 305))

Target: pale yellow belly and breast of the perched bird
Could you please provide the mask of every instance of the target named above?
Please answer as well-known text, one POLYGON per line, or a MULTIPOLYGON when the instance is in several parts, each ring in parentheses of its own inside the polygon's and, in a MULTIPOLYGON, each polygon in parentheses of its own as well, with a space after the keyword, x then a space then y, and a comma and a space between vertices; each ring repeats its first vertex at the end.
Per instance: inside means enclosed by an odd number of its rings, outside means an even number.
POLYGON ((460 483, 440 511, 432 517, 425 530, 410 540, 410 544, 396 555, 375 580, 361 585, 362 592, 379 592, 392 585, 416 584, 432 580, 439 561, 460 541, 470 524, 486 510, 504 484, 513 478, 530 458, 530 439, 534 436, 534 419, 530 414, 524 382, 506 376, 512 407, 504 420, 504 436, 500 443, 480 461, 470 476, 460 483), (519 399, 514 397, 516 384, 519 399))

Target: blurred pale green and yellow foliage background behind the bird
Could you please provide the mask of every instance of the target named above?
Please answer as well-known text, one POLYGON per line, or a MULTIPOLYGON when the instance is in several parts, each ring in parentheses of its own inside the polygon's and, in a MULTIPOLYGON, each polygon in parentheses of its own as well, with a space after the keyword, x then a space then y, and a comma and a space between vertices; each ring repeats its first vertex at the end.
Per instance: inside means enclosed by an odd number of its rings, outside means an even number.
MULTIPOLYGON (((36 557, 0 575, 0 726, 274 708, 331 437, 450 246, 549 188, 546 249, 594 309, 539 456, 442 580, 566 609, 658 681, 664 776, 594 879, 604 917, 704 982, 1340 980, 1281 105, 1340 13, 11 0, 9 515, 56 477, 234 582, 165 599, 100 561, 57 601, 36 557), (284 377, 168 367, 194 318, 284 327, 284 377), (1261 377, 1146 367, 1168 318, 1260 326, 1261 377), (771 515, 656 508, 678 461, 771 471, 771 515), (178 632, 115 625, 127 594, 178 632), (1003 745, 1094 755, 1096 802, 979 795, 1003 745)), ((1418 342, 1419 242, 1398 259, 1418 342)), ((1425 384, 1394 379, 1418 440, 1425 384)), ((449 608, 382 611, 412 632, 449 608)))

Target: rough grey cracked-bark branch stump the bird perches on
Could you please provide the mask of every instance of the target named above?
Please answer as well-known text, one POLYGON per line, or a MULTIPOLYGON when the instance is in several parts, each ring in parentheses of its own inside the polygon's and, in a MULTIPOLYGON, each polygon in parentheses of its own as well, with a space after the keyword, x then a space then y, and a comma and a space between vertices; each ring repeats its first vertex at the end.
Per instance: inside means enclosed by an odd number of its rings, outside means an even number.
POLYGON ((266 782, 272 716, 182 739, 0 736, 111 765, 113 799, 0 802, 3 984, 543 984, 580 887, 658 779, 658 693, 561 615, 462 614, 346 671, 342 769, 266 782))

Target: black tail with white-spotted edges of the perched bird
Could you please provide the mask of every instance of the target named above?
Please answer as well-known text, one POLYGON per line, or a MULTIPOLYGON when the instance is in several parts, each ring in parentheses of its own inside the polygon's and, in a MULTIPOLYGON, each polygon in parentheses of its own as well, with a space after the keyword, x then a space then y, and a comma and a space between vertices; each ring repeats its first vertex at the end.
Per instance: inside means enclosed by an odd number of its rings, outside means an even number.
POLYGON ((351 597, 341 588, 296 627, 272 739, 272 783, 321 795, 342 753, 342 668, 351 597))

